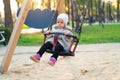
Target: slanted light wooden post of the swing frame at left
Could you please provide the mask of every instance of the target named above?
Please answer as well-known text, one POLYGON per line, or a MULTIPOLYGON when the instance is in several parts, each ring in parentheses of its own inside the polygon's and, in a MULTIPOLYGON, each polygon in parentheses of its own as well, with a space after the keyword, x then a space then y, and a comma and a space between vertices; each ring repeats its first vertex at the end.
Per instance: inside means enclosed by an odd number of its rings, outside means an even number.
POLYGON ((18 16, 18 20, 15 23, 15 27, 13 29, 13 32, 10 37, 10 41, 8 43, 6 54, 5 54, 2 64, 1 64, 1 70, 0 70, 1 73, 5 73, 8 71, 16 44, 18 42, 21 30, 22 30, 22 26, 24 24, 27 14, 28 14, 31 2, 32 2, 32 0, 24 0, 24 2, 22 4, 21 10, 20 10, 20 13, 18 16))

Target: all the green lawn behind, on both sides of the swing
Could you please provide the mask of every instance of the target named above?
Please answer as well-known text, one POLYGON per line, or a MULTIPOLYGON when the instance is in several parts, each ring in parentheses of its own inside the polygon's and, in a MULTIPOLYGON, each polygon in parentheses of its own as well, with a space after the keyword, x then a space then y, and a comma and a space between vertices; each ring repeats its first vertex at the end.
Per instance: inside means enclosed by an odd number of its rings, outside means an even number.
MULTIPOLYGON (((19 46, 40 46, 43 42, 43 34, 21 34, 19 46)), ((120 42, 120 24, 107 24, 84 26, 80 36, 80 44, 115 43, 120 42)))

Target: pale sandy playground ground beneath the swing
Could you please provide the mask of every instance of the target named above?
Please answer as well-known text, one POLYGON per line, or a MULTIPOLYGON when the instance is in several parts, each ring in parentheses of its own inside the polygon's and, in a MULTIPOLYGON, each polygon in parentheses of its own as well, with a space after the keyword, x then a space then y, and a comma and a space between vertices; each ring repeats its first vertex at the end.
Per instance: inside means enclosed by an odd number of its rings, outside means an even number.
POLYGON ((15 54, 0 80, 120 80, 120 43, 80 45, 75 57, 61 56, 54 67, 47 63, 51 54, 40 63, 29 59, 33 54, 15 54))

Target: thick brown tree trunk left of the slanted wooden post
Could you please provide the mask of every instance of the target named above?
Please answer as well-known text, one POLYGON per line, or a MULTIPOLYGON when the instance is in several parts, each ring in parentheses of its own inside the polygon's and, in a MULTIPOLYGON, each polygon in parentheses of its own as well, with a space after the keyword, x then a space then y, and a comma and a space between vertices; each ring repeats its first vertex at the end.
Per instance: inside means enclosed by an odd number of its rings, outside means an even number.
POLYGON ((10 7, 10 0, 3 0, 4 14, 5 14, 5 27, 11 28, 13 26, 12 13, 10 7))

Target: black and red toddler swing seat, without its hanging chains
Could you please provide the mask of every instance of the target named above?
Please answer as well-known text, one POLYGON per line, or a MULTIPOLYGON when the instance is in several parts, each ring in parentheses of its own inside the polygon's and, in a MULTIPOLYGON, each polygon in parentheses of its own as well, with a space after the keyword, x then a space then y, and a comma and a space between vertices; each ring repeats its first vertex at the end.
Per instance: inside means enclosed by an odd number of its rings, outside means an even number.
MULTIPOLYGON (((60 32, 52 32, 50 34, 57 34, 57 36, 65 35, 64 33, 60 33, 60 32)), ((44 42, 43 42, 43 44, 45 43, 45 41, 47 39, 47 35, 50 35, 50 34, 44 34, 44 42)), ((75 50, 76 50, 76 47, 77 47, 77 45, 79 43, 79 39, 76 36, 73 36, 73 35, 65 35, 65 36, 72 38, 72 40, 70 42, 69 49, 60 52, 59 55, 60 56, 75 56, 75 50), (73 45, 73 44, 75 44, 75 45, 73 45), (73 49, 71 49, 71 48, 73 48, 73 49)), ((57 39, 55 39, 54 42, 55 43, 53 45, 55 45, 57 43, 57 39)), ((53 49, 51 49, 51 50, 47 49, 46 52, 53 54, 53 51, 54 51, 53 49)))

